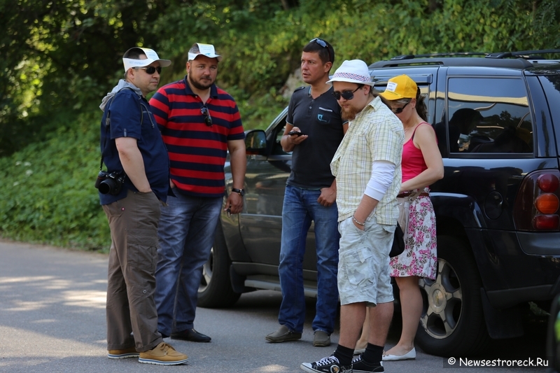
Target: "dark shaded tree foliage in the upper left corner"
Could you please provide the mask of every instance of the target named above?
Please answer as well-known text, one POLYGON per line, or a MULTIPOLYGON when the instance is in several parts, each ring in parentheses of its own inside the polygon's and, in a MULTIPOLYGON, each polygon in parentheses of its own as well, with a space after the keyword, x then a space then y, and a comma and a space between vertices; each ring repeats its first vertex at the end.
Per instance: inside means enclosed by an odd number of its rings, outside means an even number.
POLYGON ((162 8, 158 0, 0 0, 0 156, 66 127, 61 110, 76 115, 97 101, 123 50, 158 40, 144 28, 162 8))

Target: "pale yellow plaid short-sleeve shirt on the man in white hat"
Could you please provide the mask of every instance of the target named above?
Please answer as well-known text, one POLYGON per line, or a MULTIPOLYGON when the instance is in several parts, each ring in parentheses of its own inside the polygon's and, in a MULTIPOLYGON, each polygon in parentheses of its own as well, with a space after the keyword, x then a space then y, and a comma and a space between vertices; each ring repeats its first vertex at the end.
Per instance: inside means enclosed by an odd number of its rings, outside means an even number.
POLYGON ((398 209, 395 197, 402 179, 400 161, 404 141, 402 122, 379 97, 375 97, 350 122, 348 132, 330 163, 332 174, 337 178, 338 221, 353 216, 372 176, 373 162, 384 160, 396 166, 393 182, 368 220, 375 216, 379 224, 396 223, 398 209))

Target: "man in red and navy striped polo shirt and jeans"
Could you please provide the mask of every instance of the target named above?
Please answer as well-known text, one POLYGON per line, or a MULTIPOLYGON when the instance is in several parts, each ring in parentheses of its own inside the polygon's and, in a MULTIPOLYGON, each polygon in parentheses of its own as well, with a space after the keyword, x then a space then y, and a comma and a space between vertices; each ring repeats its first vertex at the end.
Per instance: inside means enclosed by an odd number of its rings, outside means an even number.
POLYGON ((230 153, 230 213, 243 207, 245 134, 233 97, 214 83, 214 45, 188 51, 187 76, 161 87, 150 100, 170 160, 175 197, 162 207, 155 271, 159 330, 172 339, 210 342, 194 328, 202 266, 210 256, 225 194, 224 164, 230 153))

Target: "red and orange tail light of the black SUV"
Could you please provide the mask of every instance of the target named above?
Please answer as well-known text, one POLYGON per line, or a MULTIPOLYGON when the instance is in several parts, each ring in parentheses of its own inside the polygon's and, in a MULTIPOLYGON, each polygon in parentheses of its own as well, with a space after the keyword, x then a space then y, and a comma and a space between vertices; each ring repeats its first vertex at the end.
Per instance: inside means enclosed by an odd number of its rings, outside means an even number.
POLYGON ((528 174, 515 200, 517 230, 560 230, 560 171, 539 170, 528 174))

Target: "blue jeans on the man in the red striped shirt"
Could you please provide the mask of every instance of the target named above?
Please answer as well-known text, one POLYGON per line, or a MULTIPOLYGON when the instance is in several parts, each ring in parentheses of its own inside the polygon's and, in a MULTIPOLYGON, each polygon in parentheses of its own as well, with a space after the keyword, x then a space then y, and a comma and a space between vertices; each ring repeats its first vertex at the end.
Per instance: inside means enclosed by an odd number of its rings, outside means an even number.
POLYGON ((190 197, 174 190, 158 228, 155 305, 158 330, 169 336, 193 328, 202 266, 210 256, 223 198, 190 197))

